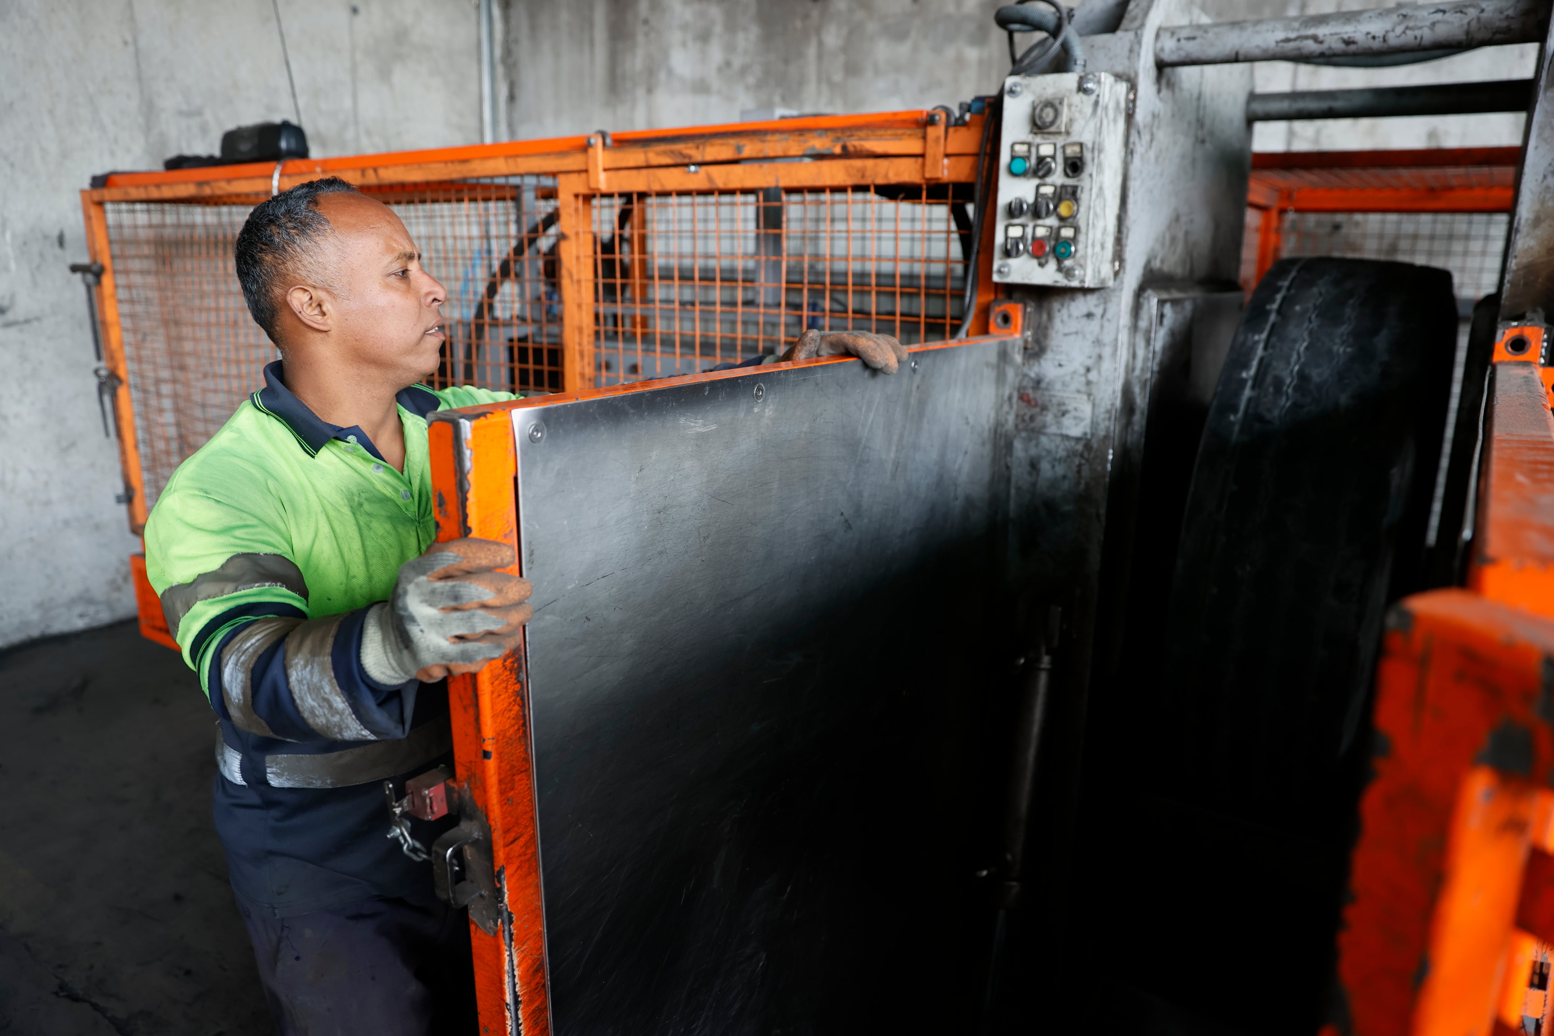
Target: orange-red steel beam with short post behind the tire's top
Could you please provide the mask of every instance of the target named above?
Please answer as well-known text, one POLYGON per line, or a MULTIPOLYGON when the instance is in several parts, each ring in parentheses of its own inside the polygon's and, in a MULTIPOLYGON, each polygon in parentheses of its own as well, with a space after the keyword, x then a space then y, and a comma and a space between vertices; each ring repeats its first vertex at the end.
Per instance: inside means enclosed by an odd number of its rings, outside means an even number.
POLYGON ((1315 151, 1257 152, 1246 189, 1246 207, 1257 213, 1257 264, 1253 283, 1279 261, 1282 250, 1280 217, 1290 211, 1304 213, 1509 213, 1515 188, 1520 148, 1434 148, 1422 151, 1315 151), (1431 183, 1430 169, 1487 168, 1504 169, 1501 182, 1461 185, 1450 180, 1431 183), (1288 171, 1363 169, 1371 183, 1333 185, 1290 183, 1280 176, 1288 171), (1408 176, 1406 171, 1416 171, 1408 176), (1406 185, 1386 185, 1392 171, 1406 185))

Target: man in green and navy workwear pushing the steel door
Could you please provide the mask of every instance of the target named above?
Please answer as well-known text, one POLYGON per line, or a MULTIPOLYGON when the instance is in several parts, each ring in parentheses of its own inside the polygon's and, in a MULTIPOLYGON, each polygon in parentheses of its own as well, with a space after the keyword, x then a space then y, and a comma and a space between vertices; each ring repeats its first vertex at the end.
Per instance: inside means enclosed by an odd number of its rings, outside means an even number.
MULTIPOLYGON (((449 761, 444 677, 531 615, 507 545, 432 542, 426 416, 517 396, 420 384, 446 290, 343 180, 255 207, 235 259, 281 359, 168 480, 146 570, 218 718, 216 831, 264 994, 281 1033, 474 1031, 465 912, 392 840, 382 784, 449 761)), ((808 332, 786 359, 824 354, 904 357, 808 332)))

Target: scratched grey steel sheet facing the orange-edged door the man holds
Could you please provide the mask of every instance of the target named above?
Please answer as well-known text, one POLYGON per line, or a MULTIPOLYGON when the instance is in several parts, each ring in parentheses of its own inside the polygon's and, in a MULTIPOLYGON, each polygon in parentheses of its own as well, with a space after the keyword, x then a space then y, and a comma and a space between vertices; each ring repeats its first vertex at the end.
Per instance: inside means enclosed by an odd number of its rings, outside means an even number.
POLYGON ((974 1019, 1016 348, 514 412, 555 1033, 974 1019))

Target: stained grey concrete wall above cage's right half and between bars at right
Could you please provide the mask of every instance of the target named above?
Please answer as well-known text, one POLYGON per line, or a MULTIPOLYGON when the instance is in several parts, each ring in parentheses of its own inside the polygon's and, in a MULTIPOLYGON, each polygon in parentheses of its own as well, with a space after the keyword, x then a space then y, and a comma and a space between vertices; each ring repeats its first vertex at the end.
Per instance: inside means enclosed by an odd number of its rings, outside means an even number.
MULTIPOLYGON (((511 137, 738 120, 752 109, 870 112, 954 104, 1009 71, 993 0, 507 0, 511 137)), ((1209 19, 1318 14, 1385 0, 1200 0, 1209 19)), ((1029 37, 1027 37, 1029 39, 1029 37)), ((1518 79, 1535 45, 1402 68, 1256 67, 1256 89, 1518 79)), ((1265 123, 1259 151, 1521 143, 1520 115, 1265 123)))

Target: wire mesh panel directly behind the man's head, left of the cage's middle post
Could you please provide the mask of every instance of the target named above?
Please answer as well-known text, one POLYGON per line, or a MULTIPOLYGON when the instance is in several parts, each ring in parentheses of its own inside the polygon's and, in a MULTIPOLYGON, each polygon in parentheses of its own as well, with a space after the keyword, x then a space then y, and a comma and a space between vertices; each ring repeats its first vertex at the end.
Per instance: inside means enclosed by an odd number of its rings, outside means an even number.
MULTIPOLYGON (((388 203, 448 289, 430 384, 561 388, 555 186, 538 177, 365 188, 388 203)), ((264 385, 280 354, 249 315, 233 245, 263 199, 106 207, 146 506, 264 385)))

